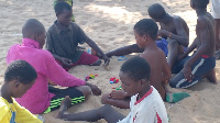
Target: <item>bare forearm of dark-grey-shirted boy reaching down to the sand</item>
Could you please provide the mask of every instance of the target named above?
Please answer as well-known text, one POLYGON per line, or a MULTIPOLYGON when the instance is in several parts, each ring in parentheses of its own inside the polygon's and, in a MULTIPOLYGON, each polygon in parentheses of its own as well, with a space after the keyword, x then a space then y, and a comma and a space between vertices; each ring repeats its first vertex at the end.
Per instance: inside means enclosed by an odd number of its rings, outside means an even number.
POLYGON ((98 47, 98 45, 92 41, 92 40, 87 40, 86 43, 91 47, 94 48, 96 52, 98 52, 101 57, 103 58, 105 60, 105 64, 109 64, 110 59, 107 57, 106 54, 103 54, 103 52, 98 47))

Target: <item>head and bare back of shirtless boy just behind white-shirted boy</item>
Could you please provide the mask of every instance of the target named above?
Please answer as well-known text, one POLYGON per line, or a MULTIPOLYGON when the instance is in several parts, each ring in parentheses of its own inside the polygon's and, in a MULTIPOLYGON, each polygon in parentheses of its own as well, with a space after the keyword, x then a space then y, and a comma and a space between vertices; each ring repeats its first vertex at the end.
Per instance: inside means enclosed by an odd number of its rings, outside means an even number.
POLYGON ((141 55, 150 64, 152 69, 150 82, 165 99, 165 88, 163 81, 170 78, 170 68, 166 62, 164 53, 157 48, 155 40, 157 37, 158 26, 151 19, 143 19, 134 25, 134 35, 139 47, 144 48, 141 55))

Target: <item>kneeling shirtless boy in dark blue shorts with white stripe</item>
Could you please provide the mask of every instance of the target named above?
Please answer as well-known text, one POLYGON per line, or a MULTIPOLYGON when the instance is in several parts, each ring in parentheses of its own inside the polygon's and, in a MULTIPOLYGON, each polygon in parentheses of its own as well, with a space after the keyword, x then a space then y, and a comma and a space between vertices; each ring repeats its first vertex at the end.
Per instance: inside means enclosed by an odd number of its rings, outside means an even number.
POLYGON ((173 88, 188 88, 207 77, 211 82, 217 83, 216 78, 216 30, 215 20, 207 12, 209 0, 190 0, 191 8, 197 13, 196 34, 197 37, 187 51, 179 56, 173 72, 177 74, 169 80, 173 88), (190 52, 193 56, 188 56, 190 52))

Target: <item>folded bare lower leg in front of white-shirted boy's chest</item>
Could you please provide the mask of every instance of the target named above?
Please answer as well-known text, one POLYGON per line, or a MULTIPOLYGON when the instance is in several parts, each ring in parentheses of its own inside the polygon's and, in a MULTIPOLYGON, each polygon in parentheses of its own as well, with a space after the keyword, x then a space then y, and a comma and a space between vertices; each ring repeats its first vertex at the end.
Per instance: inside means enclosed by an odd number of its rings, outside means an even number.
POLYGON ((129 109, 130 108, 130 99, 131 98, 127 98, 124 100, 116 100, 110 98, 110 93, 106 93, 102 96, 101 98, 101 103, 102 104, 110 104, 120 109, 129 109))

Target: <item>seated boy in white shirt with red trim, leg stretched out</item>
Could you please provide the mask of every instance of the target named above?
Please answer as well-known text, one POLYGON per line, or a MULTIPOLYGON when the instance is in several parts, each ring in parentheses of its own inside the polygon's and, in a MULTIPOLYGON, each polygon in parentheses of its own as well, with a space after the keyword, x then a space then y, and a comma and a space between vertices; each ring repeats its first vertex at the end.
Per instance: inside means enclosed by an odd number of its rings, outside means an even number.
POLYGON ((131 112, 128 116, 117 112, 110 105, 99 109, 68 113, 70 103, 66 97, 56 118, 67 121, 88 121, 96 122, 105 119, 108 123, 168 123, 164 102, 157 90, 150 85, 151 67, 142 57, 128 59, 120 69, 121 87, 131 98, 131 112))

